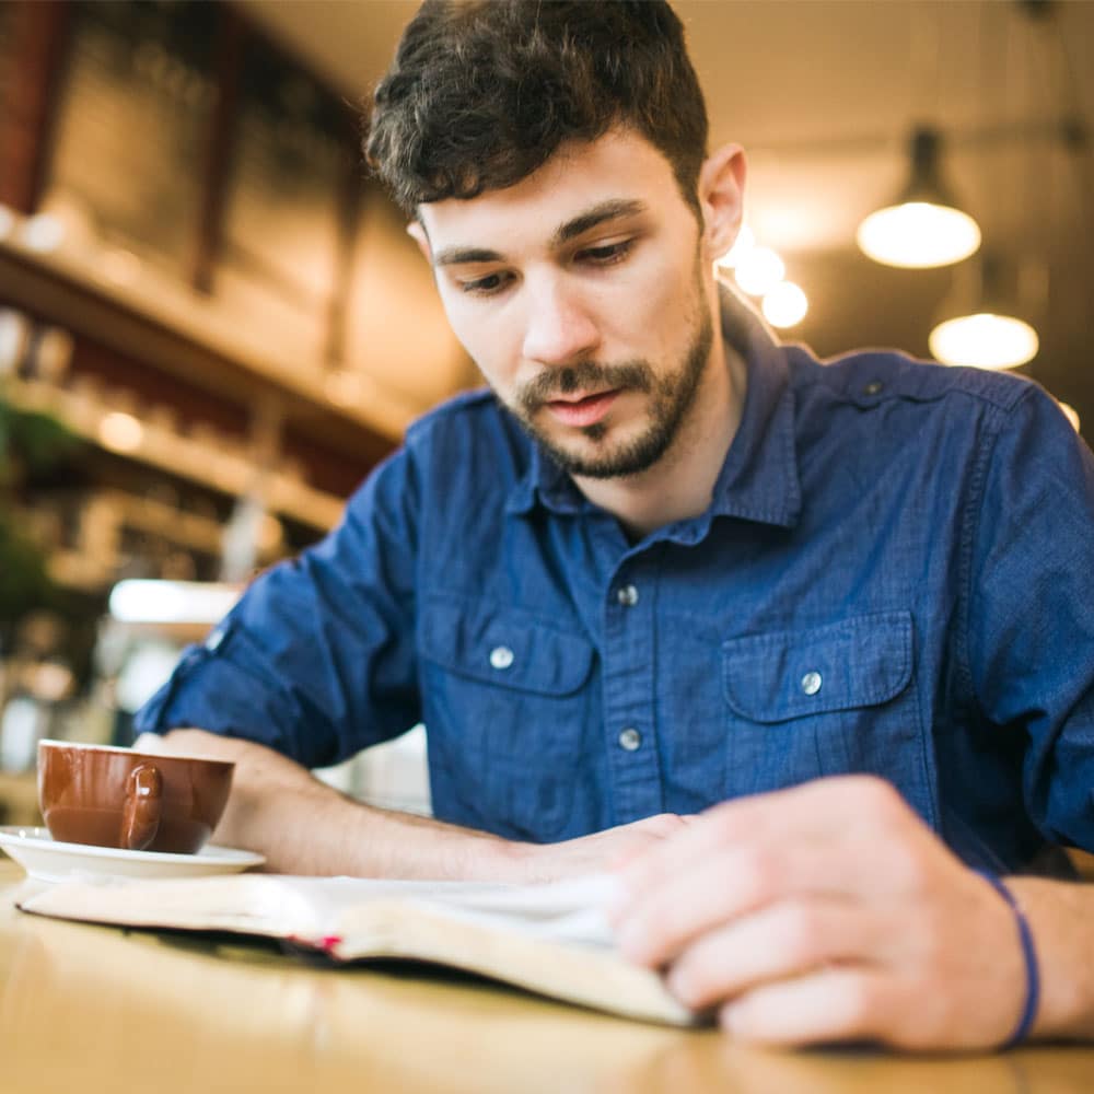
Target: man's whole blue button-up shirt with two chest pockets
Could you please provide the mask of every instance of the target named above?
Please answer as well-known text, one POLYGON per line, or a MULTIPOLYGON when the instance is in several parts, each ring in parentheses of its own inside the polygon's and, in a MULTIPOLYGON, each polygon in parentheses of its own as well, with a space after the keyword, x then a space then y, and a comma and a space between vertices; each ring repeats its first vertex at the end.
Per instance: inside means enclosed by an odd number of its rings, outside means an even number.
POLYGON ((335 763, 423 721, 435 814, 558 840, 866 771, 967 861, 1094 848, 1094 461, 1026 381, 821 363, 726 301, 737 434, 629 543, 488 392, 430 414, 138 718, 335 763))

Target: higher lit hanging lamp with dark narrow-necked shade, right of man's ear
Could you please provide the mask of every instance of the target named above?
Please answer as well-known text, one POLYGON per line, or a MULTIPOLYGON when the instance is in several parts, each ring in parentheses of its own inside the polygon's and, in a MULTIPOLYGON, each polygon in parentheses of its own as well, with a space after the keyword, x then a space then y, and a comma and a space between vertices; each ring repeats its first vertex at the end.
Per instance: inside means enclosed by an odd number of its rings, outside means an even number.
POLYGON ((941 144, 936 129, 913 130, 908 185, 893 205, 859 225, 859 247, 874 261, 910 269, 950 266, 980 246, 979 225, 942 182, 941 144))

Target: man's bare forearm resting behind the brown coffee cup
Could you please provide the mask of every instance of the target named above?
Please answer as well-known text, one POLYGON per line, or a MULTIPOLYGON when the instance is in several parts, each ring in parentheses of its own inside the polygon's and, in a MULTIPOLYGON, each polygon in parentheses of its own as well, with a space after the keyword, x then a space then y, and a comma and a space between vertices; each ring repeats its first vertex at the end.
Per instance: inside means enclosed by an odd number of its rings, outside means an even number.
POLYGON ((525 869, 525 845, 364 805, 253 742, 186 729, 139 745, 234 760, 213 839, 259 851, 278 873, 516 881, 525 869))

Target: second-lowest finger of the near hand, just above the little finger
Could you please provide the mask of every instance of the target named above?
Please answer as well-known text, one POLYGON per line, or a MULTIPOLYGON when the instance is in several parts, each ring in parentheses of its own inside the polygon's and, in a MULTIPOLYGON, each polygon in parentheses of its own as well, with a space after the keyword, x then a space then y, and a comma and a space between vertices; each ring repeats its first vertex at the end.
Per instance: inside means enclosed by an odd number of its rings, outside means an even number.
POLYGON ((833 964, 883 966, 899 946, 899 919, 841 899, 785 900, 688 946, 668 971, 668 988, 701 1010, 833 964))

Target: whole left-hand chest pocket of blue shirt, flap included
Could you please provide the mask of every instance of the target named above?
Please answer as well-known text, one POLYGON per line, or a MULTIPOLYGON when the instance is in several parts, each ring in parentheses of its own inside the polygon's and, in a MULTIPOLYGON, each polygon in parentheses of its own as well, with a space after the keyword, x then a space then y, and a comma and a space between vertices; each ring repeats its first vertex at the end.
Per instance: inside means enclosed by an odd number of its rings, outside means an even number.
POLYGON ((434 596, 419 651, 438 815, 535 841, 579 830, 596 724, 589 639, 509 606, 434 596))

